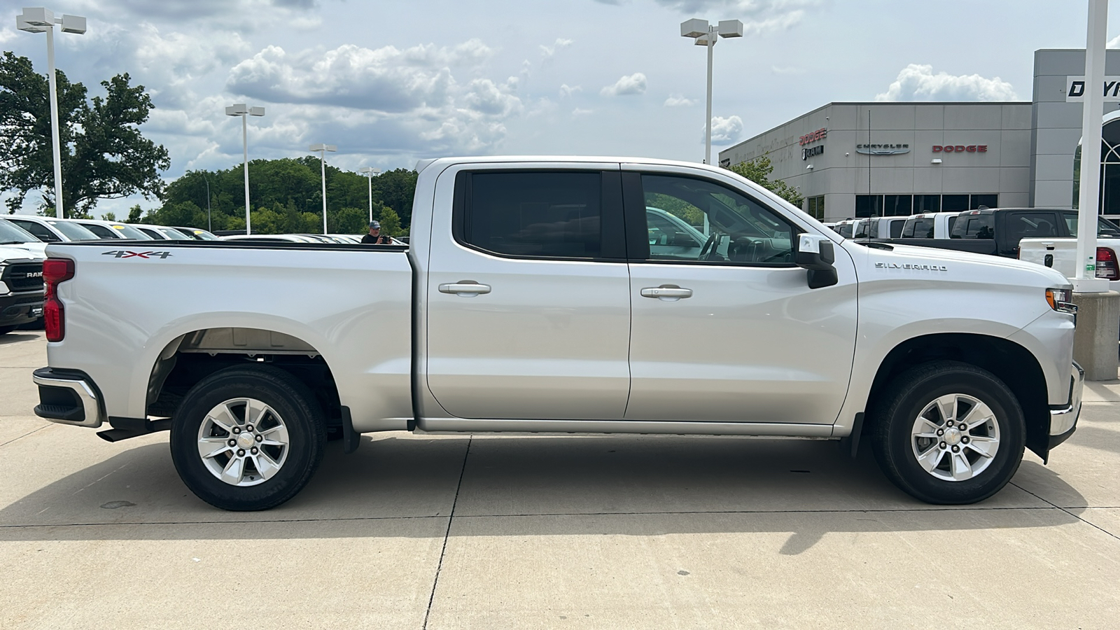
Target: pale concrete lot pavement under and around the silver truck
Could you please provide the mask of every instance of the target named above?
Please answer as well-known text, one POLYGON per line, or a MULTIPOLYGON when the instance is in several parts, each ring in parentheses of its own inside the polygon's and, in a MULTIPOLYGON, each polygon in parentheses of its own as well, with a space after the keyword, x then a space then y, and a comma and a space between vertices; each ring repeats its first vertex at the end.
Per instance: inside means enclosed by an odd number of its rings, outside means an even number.
POLYGON ((6 629, 1120 627, 1120 381, 978 506, 833 442, 391 433, 234 513, 167 434, 36 418, 45 364, 0 337, 6 629))

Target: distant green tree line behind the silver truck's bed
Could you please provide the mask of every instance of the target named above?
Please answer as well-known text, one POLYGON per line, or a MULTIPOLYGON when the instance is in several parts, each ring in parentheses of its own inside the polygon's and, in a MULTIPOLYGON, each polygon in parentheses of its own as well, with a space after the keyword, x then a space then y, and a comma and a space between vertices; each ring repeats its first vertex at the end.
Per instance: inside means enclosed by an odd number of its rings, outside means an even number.
MULTIPOLYGON (((370 186, 364 175, 327 165, 327 232, 364 234, 370 221, 370 186)), ((399 168, 373 178, 373 217, 394 237, 408 234, 417 173, 399 168)), ((242 165, 223 170, 188 170, 167 185, 164 205, 144 216, 159 225, 207 229, 209 188, 214 230, 245 229, 242 165)), ((253 233, 318 234, 323 232, 323 184, 315 156, 254 159, 249 163, 249 198, 253 233)))

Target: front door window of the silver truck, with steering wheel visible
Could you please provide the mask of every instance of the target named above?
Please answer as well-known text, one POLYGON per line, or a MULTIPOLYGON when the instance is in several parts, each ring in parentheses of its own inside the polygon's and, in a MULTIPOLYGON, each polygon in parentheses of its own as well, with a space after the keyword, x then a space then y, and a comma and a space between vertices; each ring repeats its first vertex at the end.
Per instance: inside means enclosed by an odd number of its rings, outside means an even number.
MULTIPOLYGON (((734 188, 703 179, 642 175, 646 220, 657 209, 679 229, 675 247, 651 244, 650 258, 739 265, 793 263, 793 225, 734 188)), ((652 225, 652 224, 651 224, 652 225)), ((850 233, 850 232, 849 232, 850 233)))

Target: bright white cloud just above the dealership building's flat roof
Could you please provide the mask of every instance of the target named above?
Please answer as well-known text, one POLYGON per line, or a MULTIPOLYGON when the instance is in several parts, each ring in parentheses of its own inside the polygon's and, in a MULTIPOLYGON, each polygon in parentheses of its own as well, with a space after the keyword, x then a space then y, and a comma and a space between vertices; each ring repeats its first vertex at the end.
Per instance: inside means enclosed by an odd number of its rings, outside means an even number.
POLYGON ((876 101, 1014 101, 1011 84, 998 76, 933 74, 933 66, 909 64, 876 101))

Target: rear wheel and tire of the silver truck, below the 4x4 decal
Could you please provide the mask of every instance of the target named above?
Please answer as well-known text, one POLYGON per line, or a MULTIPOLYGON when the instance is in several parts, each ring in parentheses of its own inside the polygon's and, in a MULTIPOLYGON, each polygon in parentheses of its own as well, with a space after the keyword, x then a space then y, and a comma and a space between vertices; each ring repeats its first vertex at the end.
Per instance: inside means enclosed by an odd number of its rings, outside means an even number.
POLYGON ((195 495, 223 510, 251 511, 302 490, 326 439, 323 410, 307 386, 277 368, 236 367, 187 392, 171 421, 170 447, 195 495))

